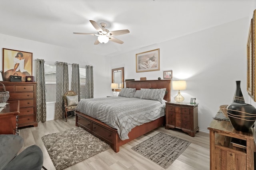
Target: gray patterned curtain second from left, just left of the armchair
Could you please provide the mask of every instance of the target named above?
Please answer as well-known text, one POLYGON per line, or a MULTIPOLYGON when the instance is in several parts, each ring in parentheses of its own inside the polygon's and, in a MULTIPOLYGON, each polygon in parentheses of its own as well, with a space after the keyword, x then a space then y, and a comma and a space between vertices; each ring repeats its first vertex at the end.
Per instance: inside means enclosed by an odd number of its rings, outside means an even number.
POLYGON ((68 91, 68 63, 56 62, 56 105, 54 119, 62 119, 64 104, 62 95, 68 91))

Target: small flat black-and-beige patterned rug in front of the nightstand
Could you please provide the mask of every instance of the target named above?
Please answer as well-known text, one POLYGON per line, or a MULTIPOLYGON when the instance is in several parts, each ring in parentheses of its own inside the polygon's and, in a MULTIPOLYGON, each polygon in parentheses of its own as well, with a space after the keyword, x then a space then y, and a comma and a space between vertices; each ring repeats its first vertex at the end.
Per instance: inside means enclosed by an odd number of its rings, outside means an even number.
POLYGON ((132 147, 132 150, 166 169, 178 158, 188 145, 190 145, 190 142, 186 140, 160 132, 135 147, 132 147))

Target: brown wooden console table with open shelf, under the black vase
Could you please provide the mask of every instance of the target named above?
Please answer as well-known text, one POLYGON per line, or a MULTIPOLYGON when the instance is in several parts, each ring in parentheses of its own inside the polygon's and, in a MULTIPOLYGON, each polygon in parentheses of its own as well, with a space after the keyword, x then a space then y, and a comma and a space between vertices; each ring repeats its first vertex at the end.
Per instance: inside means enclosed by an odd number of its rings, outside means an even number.
POLYGON ((230 121, 213 119, 210 131, 210 170, 254 170, 254 137, 249 132, 236 131, 230 121), (246 149, 230 145, 232 138, 246 141, 246 149))

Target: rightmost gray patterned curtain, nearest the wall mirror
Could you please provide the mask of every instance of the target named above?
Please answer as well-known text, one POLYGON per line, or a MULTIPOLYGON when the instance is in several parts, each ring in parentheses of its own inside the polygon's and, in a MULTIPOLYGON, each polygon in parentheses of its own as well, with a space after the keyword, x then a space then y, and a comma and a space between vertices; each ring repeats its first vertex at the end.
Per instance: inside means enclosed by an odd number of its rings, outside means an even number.
POLYGON ((93 98, 93 66, 86 65, 85 98, 93 98))

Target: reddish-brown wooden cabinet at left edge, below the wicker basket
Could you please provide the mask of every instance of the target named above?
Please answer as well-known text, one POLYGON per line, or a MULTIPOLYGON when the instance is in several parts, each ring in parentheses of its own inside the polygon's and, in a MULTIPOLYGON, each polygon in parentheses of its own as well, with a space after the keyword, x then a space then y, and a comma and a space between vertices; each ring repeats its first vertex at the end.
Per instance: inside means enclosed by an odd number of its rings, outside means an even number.
POLYGON ((20 113, 20 101, 9 101, 6 107, 0 111, 0 134, 14 134, 18 127, 18 117, 20 113))

